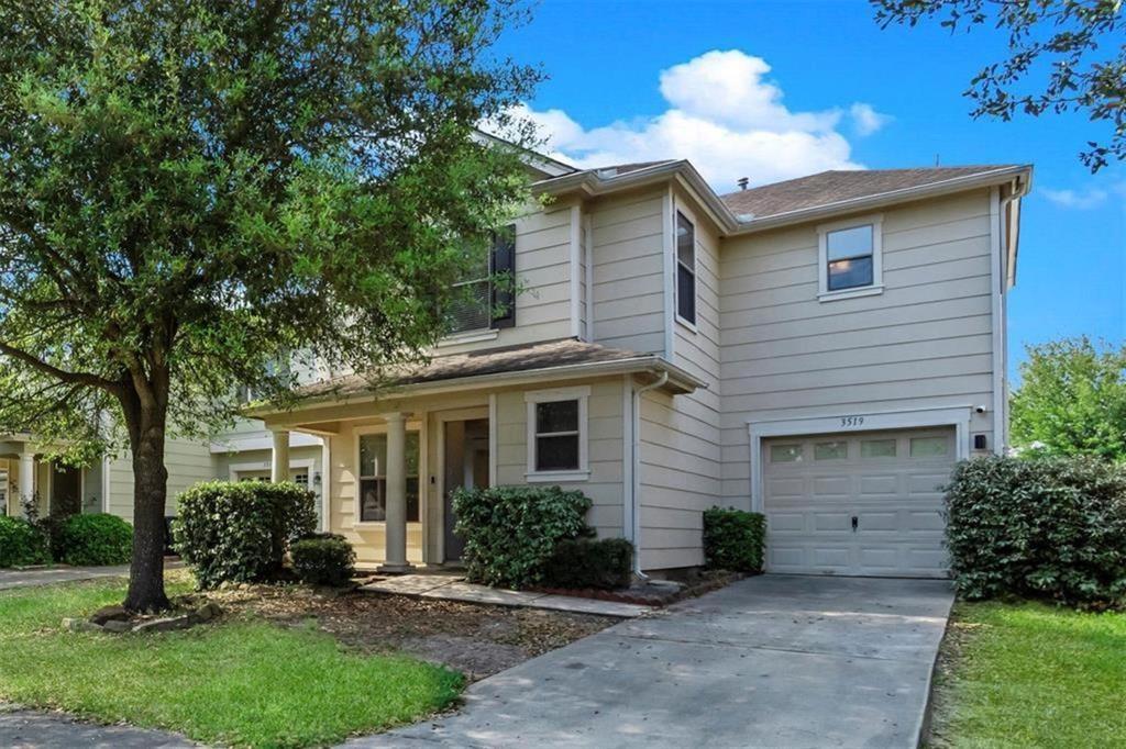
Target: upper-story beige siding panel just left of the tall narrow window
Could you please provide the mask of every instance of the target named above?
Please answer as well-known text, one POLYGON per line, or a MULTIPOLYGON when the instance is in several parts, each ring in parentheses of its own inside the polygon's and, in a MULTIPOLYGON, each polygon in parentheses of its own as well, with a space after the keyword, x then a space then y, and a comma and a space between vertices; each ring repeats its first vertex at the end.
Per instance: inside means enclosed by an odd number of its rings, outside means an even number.
POLYGON ((665 199, 650 192, 590 207, 597 343, 664 351, 665 199))

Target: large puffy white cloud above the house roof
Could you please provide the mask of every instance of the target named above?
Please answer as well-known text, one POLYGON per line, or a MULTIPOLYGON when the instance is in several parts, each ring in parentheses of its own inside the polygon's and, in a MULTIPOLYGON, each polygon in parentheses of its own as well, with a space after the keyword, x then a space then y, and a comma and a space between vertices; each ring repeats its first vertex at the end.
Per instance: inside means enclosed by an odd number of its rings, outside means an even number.
POLYGON ((848 112, 860 135, 887 121, 870 105, 793 111, 765 76, 770 65, 738 49, 712 51, 661 72, 660 115, 586 128, 561 109, 521 107, 552 155, 579 166, 688 159, 720 192, 828 169, 863 169, 839 132, 848 112))

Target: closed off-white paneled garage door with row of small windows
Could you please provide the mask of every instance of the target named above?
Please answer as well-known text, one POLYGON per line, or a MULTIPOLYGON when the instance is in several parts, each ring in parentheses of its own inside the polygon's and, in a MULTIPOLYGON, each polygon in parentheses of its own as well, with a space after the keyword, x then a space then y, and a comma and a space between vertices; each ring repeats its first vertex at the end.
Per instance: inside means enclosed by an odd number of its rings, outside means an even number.
POLYGON ((774 437, 762 444, 767 569, 946 577, 953 428, 774 437))

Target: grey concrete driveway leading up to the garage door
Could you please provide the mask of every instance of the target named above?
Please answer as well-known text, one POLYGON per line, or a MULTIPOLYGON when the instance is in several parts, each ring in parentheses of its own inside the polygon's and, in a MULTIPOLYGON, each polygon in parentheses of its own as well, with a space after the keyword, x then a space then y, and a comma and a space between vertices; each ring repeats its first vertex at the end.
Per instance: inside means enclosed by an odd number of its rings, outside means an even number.
POLYGON ((479 682, 352 747, 915 747, 941 580, 763 576, 479 682))

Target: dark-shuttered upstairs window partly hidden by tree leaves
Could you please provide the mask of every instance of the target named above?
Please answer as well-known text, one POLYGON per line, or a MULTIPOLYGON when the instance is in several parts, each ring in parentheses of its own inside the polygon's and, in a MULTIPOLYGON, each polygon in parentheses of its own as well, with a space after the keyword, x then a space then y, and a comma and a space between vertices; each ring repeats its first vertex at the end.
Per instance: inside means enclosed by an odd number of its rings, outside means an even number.
POLYGON ((512 327, 516 325, 516 226, 495 232, 488 253, 466 254, 462 280, 454 285, 449 332, 512 327))

